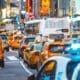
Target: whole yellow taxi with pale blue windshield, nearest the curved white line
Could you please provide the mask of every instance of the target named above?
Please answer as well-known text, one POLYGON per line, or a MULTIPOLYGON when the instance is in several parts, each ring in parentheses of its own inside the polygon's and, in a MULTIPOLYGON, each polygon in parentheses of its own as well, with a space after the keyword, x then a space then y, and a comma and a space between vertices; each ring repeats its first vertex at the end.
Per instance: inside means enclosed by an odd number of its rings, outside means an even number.
POLYGON ((40 43, 39 40, 36 40, 35 42, 29 42, 26 49, 23 51, 23 59, 27 62, 27 64, 31 68, 38 68, 38 62, 39 62, 39 54, 42 49, 42 43, 40 43))

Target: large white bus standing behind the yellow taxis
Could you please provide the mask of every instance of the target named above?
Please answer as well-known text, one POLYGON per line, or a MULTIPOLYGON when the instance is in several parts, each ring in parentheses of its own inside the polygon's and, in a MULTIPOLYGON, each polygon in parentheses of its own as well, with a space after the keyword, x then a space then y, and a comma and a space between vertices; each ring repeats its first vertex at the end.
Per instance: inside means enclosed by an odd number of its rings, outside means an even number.
POLYGON ((64 18, 46 18, 35 19, 25 22, 25 31, 27 34, 50 34, 70 35, 70 19, 64 18))

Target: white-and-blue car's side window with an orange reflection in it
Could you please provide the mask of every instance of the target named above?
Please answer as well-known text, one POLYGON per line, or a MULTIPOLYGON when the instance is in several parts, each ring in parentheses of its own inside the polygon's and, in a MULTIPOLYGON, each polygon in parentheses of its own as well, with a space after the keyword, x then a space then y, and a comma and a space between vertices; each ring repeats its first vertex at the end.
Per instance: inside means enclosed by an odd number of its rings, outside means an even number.
POLYGON ((54 80, 56 66, 56 61, 48 61, 38 73, 37 80, 54 80))

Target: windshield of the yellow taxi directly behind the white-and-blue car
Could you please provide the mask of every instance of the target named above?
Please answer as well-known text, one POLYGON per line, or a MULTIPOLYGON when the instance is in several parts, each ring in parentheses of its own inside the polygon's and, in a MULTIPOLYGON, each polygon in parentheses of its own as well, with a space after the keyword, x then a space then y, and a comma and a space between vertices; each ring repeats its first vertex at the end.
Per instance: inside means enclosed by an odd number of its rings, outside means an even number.
POLYGON ((62 45, 50 45, 49 50, 54 53, 62 53, 63 47, 62 45))

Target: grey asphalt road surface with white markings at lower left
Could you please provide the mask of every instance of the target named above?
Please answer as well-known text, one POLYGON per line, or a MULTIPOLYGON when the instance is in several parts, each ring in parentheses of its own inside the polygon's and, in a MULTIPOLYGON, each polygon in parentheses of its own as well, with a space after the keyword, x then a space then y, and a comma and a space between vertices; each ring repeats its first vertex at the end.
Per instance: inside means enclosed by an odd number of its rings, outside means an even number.
POLYGON ((17 51, 5 53, 5 67, 0 69, 0 80, 27 80, 36 70, 32 70, 18 58, 17 51))

